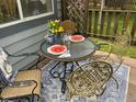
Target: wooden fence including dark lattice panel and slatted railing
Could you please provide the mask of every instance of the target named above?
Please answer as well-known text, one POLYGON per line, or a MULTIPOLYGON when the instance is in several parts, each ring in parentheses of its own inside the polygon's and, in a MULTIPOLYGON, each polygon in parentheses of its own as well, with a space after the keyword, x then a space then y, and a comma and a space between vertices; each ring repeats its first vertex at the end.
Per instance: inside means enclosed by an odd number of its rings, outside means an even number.
MULTIPOLYGON (((76 23, 80 23, 77 24, 79 26, 88 25, 90 35, 110 37, 124 34, 125 31, 128 30, 132 39, 136 41, 136 10, 132 9, 136 5, 136 1, 134 1, 135 0, 63 0, 63 15, 64 20, 70 19, 76 23), (68 18, 65 18, 66 15, 68 18), (88 24, 86 21, 88 21, 88 24)), ((79 26, 78 30, 81 31, 79 26)), ((84 30, 84 27, 82 30, 84 30)))

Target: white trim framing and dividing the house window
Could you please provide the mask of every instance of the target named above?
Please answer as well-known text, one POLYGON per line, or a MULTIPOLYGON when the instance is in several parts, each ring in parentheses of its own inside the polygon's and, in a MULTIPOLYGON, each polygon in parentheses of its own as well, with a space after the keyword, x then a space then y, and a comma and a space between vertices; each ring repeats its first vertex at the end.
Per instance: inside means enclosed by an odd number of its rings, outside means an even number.
POLYGON ((27 18, 23 18, 23 11, 22 11, 22 7, 21 7, 20 0, 16 0, 16 3, 18 3, 18 8, 19 8, 20 20, 15 20, 15 21, 12 21, 12 22, 0 24, 0 29, 8 27, 8 26, 11 26, 11 25, 15 25, 18 23, 23 23, 23 22, 26 22, 26 21, 32 21, 32 20, 41 19, 41 18, 44 18, 44 16, 47 16, 47 15, 52 15, 52 14, 55 13, 55 11, 54 11, 54 0, 52 0, 52 8, 53 8, 52 12, 42 13, 42 14, 38 14, 38 15, 32 15, 32 16, 27 16, 27 18))

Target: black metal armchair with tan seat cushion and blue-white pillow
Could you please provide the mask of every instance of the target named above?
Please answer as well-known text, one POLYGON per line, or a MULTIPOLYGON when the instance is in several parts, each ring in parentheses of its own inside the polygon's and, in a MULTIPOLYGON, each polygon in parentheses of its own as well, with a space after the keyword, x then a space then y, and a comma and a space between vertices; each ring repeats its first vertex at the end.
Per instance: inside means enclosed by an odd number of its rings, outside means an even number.
MULTIPOLYGON (((37 53, 26 53, 22 55, 10 55, 3 48, 0 48, 0 100, 25 99, 34 102, 34 97, 41 95, 41 70, 12 71, 12 66, 8 61, 10 57, 37 56, 37 53), (36 73, 36 75, 35 75, 36 73), (31 95, 31 97, 30 97, 31 95)), ((36 61, 36 64, 38 60, 36 61)))

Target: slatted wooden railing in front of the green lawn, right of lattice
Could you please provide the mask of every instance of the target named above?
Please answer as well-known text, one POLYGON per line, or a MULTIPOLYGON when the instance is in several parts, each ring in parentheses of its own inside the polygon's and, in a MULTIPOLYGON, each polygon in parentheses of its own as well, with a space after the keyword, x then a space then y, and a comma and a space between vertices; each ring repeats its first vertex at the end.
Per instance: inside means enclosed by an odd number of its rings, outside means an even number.
POLYGON ((115 36, 129 30, 136 42, 136 11, 89 9, 88 31, 94 36, 115 36))

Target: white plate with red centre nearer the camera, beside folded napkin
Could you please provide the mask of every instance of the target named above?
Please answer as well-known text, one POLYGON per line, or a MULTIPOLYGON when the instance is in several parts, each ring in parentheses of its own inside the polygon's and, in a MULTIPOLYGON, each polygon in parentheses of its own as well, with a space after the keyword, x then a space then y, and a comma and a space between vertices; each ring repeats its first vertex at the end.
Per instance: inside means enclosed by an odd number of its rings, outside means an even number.
POLYGON ((47 52, 54 55, 60 55, 67 50, 66 46, 63 45, 53 45, 47 48, 47 52))

